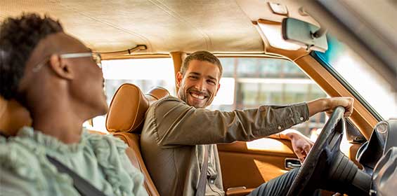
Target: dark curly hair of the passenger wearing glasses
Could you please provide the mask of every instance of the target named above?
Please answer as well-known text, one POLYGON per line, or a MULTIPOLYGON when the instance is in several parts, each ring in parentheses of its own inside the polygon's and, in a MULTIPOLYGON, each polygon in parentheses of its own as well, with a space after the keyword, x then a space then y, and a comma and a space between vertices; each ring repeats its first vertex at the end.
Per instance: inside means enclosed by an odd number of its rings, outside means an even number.
POLYGON ((4 20, 0 26, 0 96, 16 97, 27 59, 37 43, 61 31, 63 27, 58 21, 33 13, 4 20))

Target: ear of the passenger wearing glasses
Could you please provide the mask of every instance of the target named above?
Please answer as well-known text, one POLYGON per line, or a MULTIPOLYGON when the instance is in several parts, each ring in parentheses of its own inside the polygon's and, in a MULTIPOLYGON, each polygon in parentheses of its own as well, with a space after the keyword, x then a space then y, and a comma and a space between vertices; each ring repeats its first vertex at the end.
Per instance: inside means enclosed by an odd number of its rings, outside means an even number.
POLYGON ((51 55, 48 61, 50 69, 54 71, 60 78, 65 78, 67 80, 72 80, 74 78, 73 71, 67 61, 62 59, 60 55, 51 55))

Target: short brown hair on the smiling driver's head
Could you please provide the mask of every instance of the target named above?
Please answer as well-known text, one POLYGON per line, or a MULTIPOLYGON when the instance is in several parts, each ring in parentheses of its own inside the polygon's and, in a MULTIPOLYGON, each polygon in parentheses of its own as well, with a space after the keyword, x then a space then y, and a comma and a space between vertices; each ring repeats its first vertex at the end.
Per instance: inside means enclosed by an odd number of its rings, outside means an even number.
POLYGON ((197 51, 188 55, 188 57, 183 60, 183 64, 181 66, 182 75, 185 75, 186 70, 188 70, 189 63, 192 60, 206 61, 210 62, 211 64, 215 64, 219 68, 220 77, 222 76, 223 69, 221 62, 219 61, 218 57, 215 57, 215 55, 212 55, 211 52, 207 51, 197 51))

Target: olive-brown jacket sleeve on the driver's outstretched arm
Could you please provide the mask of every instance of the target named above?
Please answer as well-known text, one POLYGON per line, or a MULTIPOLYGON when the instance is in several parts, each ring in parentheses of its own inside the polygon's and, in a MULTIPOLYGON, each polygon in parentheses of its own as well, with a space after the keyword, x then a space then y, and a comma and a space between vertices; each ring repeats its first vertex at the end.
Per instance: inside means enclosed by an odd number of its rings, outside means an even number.
POLYGON ((176 98, 166 98, 153 109, 160 146, 252 141, 308 119, 306 103, 225 112, 195 109, 176 98))

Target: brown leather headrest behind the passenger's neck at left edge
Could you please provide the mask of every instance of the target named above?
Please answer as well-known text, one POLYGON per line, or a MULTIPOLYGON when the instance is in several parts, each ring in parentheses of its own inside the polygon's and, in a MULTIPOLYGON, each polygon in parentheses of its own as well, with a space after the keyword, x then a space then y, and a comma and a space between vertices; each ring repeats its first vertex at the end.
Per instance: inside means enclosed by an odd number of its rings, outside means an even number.
POLYGON ((0 97, 0 132, 7 136, 15 135, 23 126, 32 125, 30 113, 15 100, 0 97))

